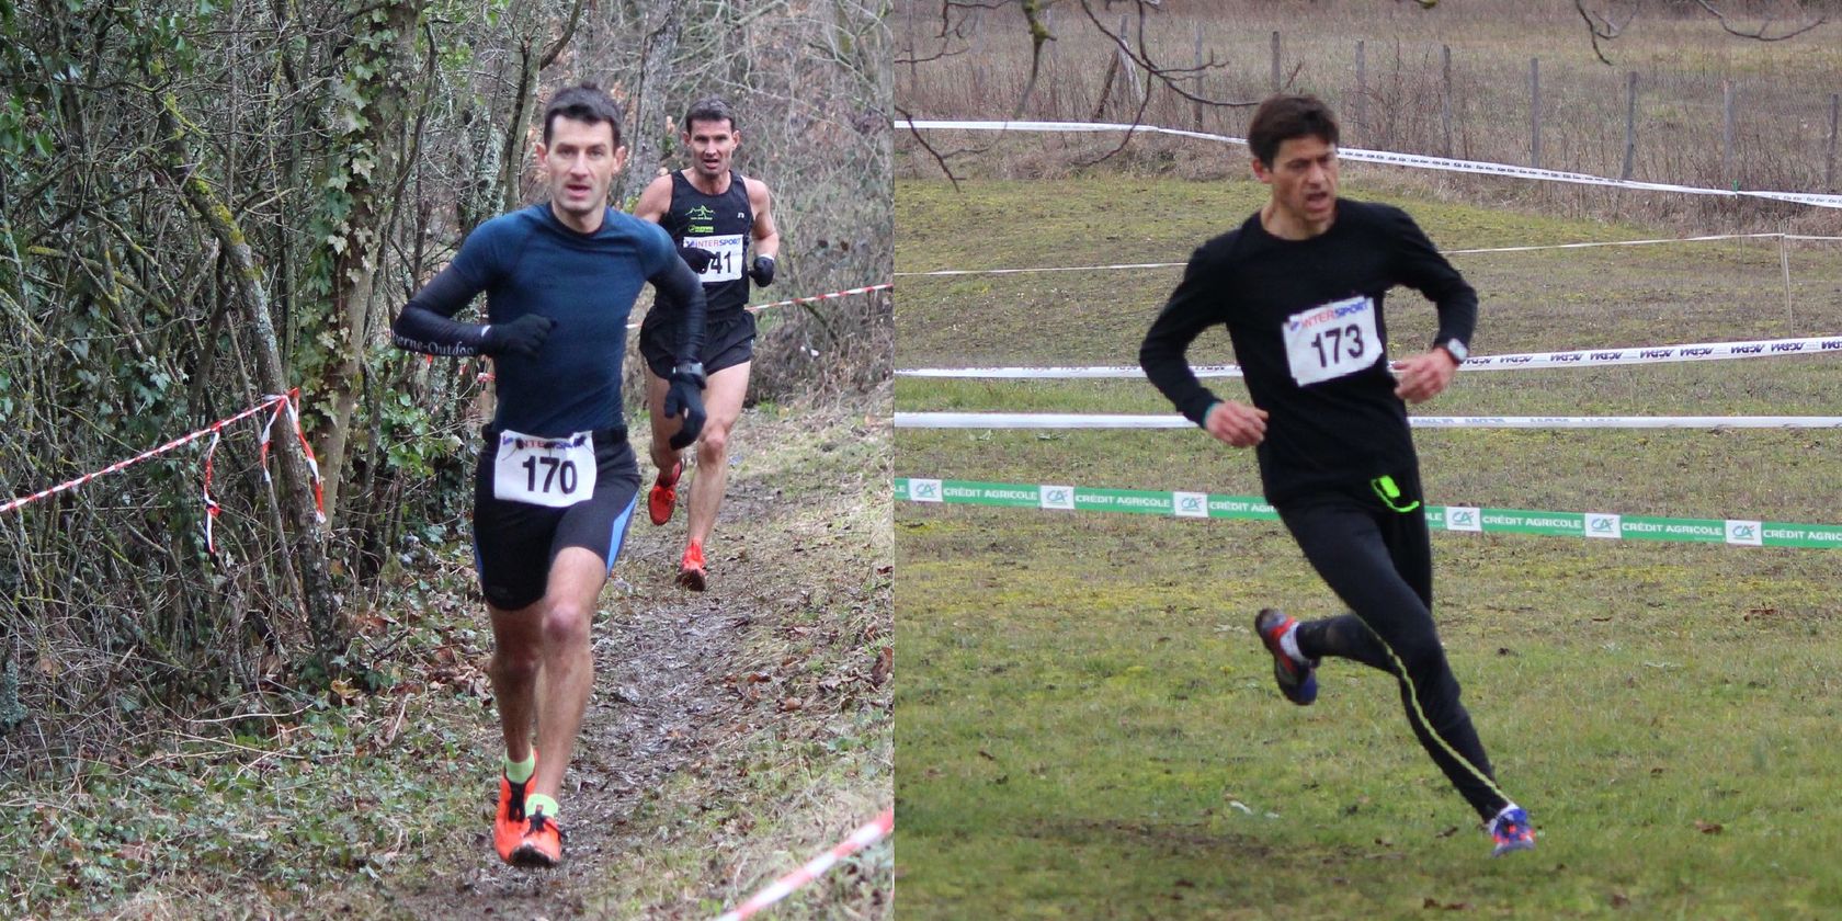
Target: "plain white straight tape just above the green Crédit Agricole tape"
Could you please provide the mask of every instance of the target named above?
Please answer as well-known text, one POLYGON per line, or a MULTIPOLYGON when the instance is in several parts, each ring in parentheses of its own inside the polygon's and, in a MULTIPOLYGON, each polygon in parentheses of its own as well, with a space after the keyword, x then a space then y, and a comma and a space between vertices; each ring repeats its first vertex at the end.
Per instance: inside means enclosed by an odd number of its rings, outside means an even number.
MULTIPOLYGON (((1409 416, 1416 429, 1842 429, 1842 416, 1409 416)), ((1194 429, 1188 418, 1107 413, 895 413, 897 429, 1194 429)))

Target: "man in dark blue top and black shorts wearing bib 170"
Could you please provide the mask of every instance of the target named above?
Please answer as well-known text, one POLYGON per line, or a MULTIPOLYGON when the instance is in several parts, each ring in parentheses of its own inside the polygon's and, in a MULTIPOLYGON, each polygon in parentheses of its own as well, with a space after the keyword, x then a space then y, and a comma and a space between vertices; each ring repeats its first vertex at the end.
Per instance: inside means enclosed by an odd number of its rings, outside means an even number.
POLYGON ((639 495, 621 363, 647 282, 683 304, 663 409, 687 444, 704 424, 704 289, 663 230, 608 206, 626 160, 621 109, 593 85, 558 92, 536 158, 551 201, 479 225, 394 328, 400 348, 494 359, 473 549, 505 731, 494 847, 518 866, 562 860, 556 796, 595 680, 589 623, 639 495), (479 293, 488 322, 453 321, 479 293))

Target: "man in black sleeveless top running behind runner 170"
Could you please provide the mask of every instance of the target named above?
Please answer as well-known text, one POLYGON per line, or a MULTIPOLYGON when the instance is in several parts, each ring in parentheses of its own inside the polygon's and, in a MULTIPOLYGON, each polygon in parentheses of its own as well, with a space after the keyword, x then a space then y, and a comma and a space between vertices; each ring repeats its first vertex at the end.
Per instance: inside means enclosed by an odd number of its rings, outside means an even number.
MULTIPOLYGON (((704 278, 709 298, 704 368, 709 387, 704 403, 709 422, 696 442, 696 484, 685 518, 685 553, 678 562, 678 584, 704 591, 704 542, 717 527, 722 486, 729 477, 729 431, 742 414, 748 374, 755 357, 755 315, 748 304, 748 282, 766 287, 774 282, 774 258, 781 234, 774 227, 772 195, 759 179, 731 168, 742 134, 735 112, 717 98, 698 99, 685 112, 683 144, 694 160, 654 179, 634 214, 658 221, 678 243, 680 252, 704 278), (753 256, 750 256, 753 251, 753 256)), ((678 503, 678 475, 683 472, 676 420, 663 413, 672 361, 683 348, 682 306, 659 297, 639 328, 639 354, 647 359, 647 400, 652 407, 652 462, 659 479, 647 494, 647 512, 654 525, 672 519, 678 503)))

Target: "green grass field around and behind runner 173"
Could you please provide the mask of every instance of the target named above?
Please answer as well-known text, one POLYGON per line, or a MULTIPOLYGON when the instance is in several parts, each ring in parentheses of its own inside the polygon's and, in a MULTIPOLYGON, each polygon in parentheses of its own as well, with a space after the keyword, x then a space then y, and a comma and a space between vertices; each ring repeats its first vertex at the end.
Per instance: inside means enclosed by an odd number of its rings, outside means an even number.
MULTIPOLYGON (((1415 199, 1444 249, 1656 236, 1415 199)), ((1183 262, 1251 182, 897 182, 897 271, 1183 262), (993 241, 1004 241, 995 245, 993 241)), ((1663 234, 1669 236, 1669 234, 1663 234)), ((1453 256, 1477 354, 1842 330, 1842 249, 1453 256)), ((1131 365, 1177 269, 903 278, 897 367, 1131 365)), ((1391 352, 1433 311, 1389 300, 1391 352)), ((1227 335, 1195 363, 1232 361, 1227 335)), ((1468 372, 1420 414, 1836 414, 1835 357, 1468 372)), ((1236 381, 1210 381, 1243 396, 1236 381)), ((899 379, 897 409, 1168 413, 1144 381, 899 379)), ((1835 431, 1420 431, 1435 505, 1838 523, 1835 431)), ((1258 494, 1197 431, 901 429, 895 475, 1258 494)), ((903 917, 1825 917, 1842 910, 1833 551, 1435 534, 1435 615, 1533 855, 1486 838, 1393 682, 1273 689, 1262 604, 1334 599, 1277 523, 895 510, 903 917)))

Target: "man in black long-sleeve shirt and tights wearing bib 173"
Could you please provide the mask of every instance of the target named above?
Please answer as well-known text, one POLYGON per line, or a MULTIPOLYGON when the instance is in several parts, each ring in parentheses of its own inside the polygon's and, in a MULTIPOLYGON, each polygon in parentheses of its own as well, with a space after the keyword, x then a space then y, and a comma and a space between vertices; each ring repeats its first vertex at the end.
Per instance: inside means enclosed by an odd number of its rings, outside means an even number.
POLYGON ((1205 431, 1258 446, 1267 501, 1350 606, 1310 623, 1256 615, 1280 691, 1315 700, 1321 656, 1394 674, 1415 735, 1490 825, 1494 853, 1529 849, 1529 816, 1498 788, 1433 626, 1431 540, 1404 403, 1451 381, 1477 293, 1405 212, 1335 197, 1335 144, 1334 116, 1310 96, 1260 107, 1249 146, 1271 201, 1195 251, 1138 361, 1205 431), (1391 363, 1382 304, 1402 284, 1439 308, 1439 335, 1429 352, 1391 363), (1253 405, 1216 398, 1190 370, 1190 343, 1214 324, 1229 328, 1253 405))

